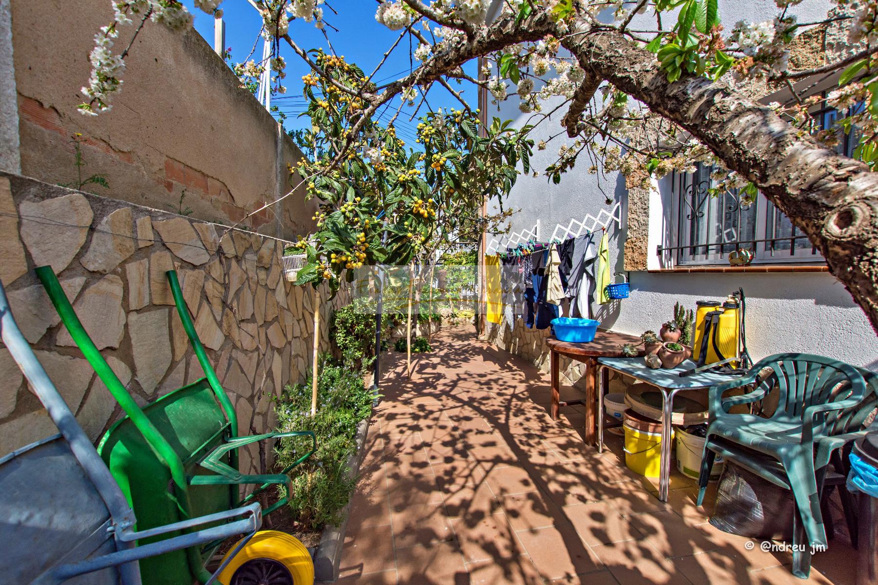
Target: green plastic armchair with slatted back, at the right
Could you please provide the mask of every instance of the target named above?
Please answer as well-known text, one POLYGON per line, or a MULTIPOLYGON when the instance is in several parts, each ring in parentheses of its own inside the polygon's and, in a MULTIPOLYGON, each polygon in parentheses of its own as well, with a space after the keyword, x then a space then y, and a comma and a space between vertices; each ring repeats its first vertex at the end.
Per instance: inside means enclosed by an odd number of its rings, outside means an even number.
MULTIPOLYGON (((874 384, 874 376, 869 375, 874 384)), ((875 405, 875 388, 859 368, 808 353, 779 353, 760 360, 743 378, 710 389, 709 425, 702 457, 698 505, 702 505, 716 454, 734 460, 768 482, 790 489, 795 500, 793 574, 810 573, 810 547, 827 546, 820 491, 833 451, 863 432, 875 405), (760 377, 765 368, 771 374, 760 377), (752 386, 742 396, 723 395, 752 386), (732 414, 739 404, 776 393, 770 416, 732 414)))

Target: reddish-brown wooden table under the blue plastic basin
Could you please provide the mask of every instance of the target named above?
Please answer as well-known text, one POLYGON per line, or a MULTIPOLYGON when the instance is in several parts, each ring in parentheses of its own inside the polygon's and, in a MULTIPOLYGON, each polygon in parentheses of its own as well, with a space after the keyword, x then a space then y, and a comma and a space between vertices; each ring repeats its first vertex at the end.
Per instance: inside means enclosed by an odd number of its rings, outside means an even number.
MULTIPOLYGON (((625 333, 615 333, 598 330, 594 341, 587 343, 570 343, 558 341, 555 338, 546 339, 551 353, 551 417, 558 420, 558 410, 562 406, 572 404, 586 405, 586 437, 589 445, 597 444, 597 387, 598 387, 598 358, 621 358, 622 346, 626 343, 637 345, 640 338, 625 333), (586 399, 570 400, 561 402, 561 384, 559 382, 558 355, 566 355, 572 360, 586 364, 586 399)), ((605 370, 606 375, 606 370, 605 370)))

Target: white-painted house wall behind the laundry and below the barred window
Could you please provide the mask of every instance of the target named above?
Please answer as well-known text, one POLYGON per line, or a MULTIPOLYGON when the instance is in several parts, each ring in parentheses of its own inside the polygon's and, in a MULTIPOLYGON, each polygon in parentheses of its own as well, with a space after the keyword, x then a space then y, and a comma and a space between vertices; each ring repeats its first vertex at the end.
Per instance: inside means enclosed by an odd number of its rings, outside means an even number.
MULTIPOLYGON (((800 22, 810 22, 824 18, 828 3, 802 3, 790 7, 800 22)), ((738 19, 754 21, 773 18, 776 6, 770 2, 733 3, 720 2, 720 15, 723 23, 730 24, 738 19)), ((655 23, 638 15, 630 28, 652 29, 655 23)), ((510 90, 513 93, 515 88, 510 90)), ((547 104, 543 111, 551 111, 553 103, 547 104)), ((482 107, 485 107, 482 104, 482 107)), ((488 105, 488 118, 513 119, 518 126, 527 123, 529 114, 518 110, 518 99, 514 95, 507 102, 497 106, 488 105)), ((561 132, 559 125, 565 113, 562 108, 531 132, 536 141, 548 140, 561 132)), ((533 167, 542 170, 557 159, 558 147, 571 144, 564 133, 551 140, 544 151, 537 151, 531 158, 533 167)), ((582 220, 587 213, 597 216, 598 211, 610 210, 605 202, 622 203, 623 222, 621 228, 610 231, 610 260, 613 272, 623 270, 623 246, 628 238, 629 219, 628 191, 623 177, 618 174, 591 175, 588 168, 592 163, 583 154, 576 167, 563 176, 559 185, 547 182, 546 177, 522 175, 507 200, 507 207, 521 209, 512 218, 513 232, 531 229, 540 221, 540 239, 551 238, 558 223, 567 224, 571 218, 582 220)), ((662 199, 666 193, 655 193, 649 197, 649 215, 659 218, 661 225, 662 199)), ((651 221, 652 225, 656 222, 651 221)), ((651 239, 654 234, 650 234, 651 239)), ((660 234, 659 234, 660 235, 660 234)), ((647 253, 650 260, 655 255, 656 241, 650 241, 647 253)), ((653 263, 651 261, 651 263, 653 263)), ((878 369, 878 338, 868 324, 859 306, 841 284, 828 273, 784 273, 784 274, 690 274, 690 273, 650 273, 631 272, 630 298, 607 305, 596 305, 595 318, 604 327, 615 331, 639 335, 647 329, 655 331, 663 322, 673 316, 673 304, 683 303, 693 308, 700 298, 719 299, 727 296, 738 287, 743 287, 747 295, 747 341, 752 357, 759 359, 771 353, 783 351, 802 351, 822 353, 839 360, 878 369)), ((505 325, 488 324, 486 338, 512 353, 521 355, 544 370, 549 367, 548 352, 543 339, 548 330, 537 332, 523 326, 521 319, 515 324, 513 332, 505 325)), ((576 382, 579 369, 575 365, 562 364, 566 382, 576 382)))

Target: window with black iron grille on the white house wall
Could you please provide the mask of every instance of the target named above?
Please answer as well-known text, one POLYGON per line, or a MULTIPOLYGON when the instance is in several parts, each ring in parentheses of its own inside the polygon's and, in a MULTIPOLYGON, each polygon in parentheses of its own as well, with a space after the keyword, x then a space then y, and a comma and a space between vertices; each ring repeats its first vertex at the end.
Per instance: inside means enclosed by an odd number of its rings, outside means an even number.
MULTIPOLYGON (((820 129, 836 127, 838 111, 827 108, 812 115, 820 129)), ((857 132, 838 132, 836 149, 850 156, 857 132)), ((753 264, 824 261, 807 236, 761 193, 752 202, 737 189, 712 194, 712 170, 699 164, 694 173, 672 176, 669 245, 659 247, 662 260, 678 266, 728 265, 729 253, 743 248, 752 252, 753 264)))

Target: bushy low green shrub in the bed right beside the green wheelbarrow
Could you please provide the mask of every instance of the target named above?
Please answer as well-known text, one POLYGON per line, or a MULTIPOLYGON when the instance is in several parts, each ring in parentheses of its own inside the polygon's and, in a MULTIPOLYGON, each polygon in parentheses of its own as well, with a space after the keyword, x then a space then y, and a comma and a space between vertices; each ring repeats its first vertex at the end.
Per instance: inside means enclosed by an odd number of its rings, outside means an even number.
MULTIPOLYGON (((305 531, 339 524, 356 481, 348 477, 349 457, 356 451, 356 425, 371 414, 375 395, 360 373, 328 354, 320 356, 317 415, 311 416, 311 375, 306 383, 287 386, 277 401, 277 431, 313 431, 317 451, 290 471, 290 509, 305 531)), ((277 465, 286 467, 311 447, 308 437, 279 439, 277 465)))

